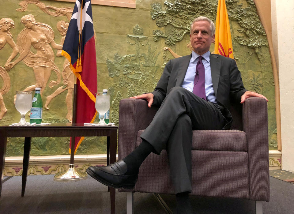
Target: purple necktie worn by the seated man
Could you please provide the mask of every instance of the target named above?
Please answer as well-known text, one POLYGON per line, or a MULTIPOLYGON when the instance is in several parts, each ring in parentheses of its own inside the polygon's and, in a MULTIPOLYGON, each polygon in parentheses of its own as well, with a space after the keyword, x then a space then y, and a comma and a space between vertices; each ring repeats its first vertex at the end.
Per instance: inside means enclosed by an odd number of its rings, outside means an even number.
POLYGON ((202 56, 199 56, 199 61, 196 65, 196 74, 194 78, 193 93, 198 97, 206 100, 205 95, 205 69, 202 63, 202 56))

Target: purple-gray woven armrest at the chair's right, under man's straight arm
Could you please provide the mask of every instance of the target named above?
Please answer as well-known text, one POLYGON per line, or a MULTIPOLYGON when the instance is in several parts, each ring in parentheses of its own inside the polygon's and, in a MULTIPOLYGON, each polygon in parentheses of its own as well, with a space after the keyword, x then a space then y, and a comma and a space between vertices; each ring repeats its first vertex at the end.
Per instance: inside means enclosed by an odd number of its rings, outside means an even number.
POLYGON ((269 138, 267 102, 247 98, 242 109, 243 131, 247 135, 250 199, 269 201, 269 138))

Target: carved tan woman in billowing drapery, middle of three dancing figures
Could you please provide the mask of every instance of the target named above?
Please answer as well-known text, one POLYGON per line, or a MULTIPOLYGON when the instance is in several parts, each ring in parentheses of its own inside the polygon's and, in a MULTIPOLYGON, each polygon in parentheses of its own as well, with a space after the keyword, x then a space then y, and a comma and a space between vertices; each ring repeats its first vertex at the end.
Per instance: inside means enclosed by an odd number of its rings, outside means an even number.
POLYGON ((54 41, 54 32, 52 28, 44 23, 36 22, 34 15, 28 14, 21 18, 21 23, 25 25, 18 37, 17 47, 19 48, 20 56, 10 62, 6 69, 11 69, 18 62, 23 60, 25 64, 32 67, 36 77, 36 84, 25 88, 25 91, 33 91, 36 87, 41 88, 41 94, 44 92, 47 82, 53 70, 57 74, 56 81, 50 81, 49 87, 60 83, 60 71, 54 63, 54 49, 61 50, 62 45, 58 45, 54 41), (51 46, 50 46, 51 45, 51 46), (30 51, 31 47, 36 49, 36 53, 30 51))

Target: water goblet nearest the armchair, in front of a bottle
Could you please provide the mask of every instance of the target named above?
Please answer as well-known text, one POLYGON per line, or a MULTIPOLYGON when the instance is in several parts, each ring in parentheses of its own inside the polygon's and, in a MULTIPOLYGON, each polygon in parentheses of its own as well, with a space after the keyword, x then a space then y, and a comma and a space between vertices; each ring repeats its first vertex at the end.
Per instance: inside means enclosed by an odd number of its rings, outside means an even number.
POLYGON ((97 92, 96 93, 96 103, 95 108, 101 115, 98 125, 106 126, 107 123, 104 121, 104 114, 108 111, 110 107, 110 94, 107 92, 97 92))

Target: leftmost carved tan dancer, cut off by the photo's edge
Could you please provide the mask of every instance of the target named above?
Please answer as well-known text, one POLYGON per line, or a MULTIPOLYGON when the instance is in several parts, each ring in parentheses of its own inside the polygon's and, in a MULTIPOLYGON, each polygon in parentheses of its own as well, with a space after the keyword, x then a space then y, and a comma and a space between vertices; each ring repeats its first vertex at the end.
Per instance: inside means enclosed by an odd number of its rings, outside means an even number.
MULTIPOLYGON (((7 59, 4 67, 8 66, 9 62, 11 62, 11 60, 13 58, 15 58, 16 55, 18 54, 18 48, 17 48, 16 44, 14 43, 14 41, 12 39, 12 35, 9 31, 11 27, 14 28, 14 22, 12 19, 2 18, 0 20, 0 50, 6 45, 6 43, 8 43, 9 46, 13 49, 13 51, 12 51, 10 57, 7 59)), ((3 68, 2 66, 0 66, 0 76, 3 80, 3 86, 0 89, 0 108, 1 108, 0 120, 1 120, 7 112, 2 94, 6 94, 10 89, 10 77, 9 77, 6 69, 3 68)))

